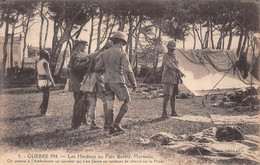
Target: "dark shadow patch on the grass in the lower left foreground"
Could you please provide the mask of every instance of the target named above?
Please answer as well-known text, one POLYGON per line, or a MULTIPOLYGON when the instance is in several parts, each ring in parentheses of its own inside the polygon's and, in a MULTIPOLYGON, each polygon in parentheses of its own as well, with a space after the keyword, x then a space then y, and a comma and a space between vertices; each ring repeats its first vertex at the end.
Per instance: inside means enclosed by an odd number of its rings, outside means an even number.
POLYGON ((67 128, 34 135, 6 137, 2 139, 2 142, 19 148, 46 150, 78 146, 85 142, 93 144, 93 142, 97 142, 99 139, 108 137, 103 131, 72 130, 67 128))

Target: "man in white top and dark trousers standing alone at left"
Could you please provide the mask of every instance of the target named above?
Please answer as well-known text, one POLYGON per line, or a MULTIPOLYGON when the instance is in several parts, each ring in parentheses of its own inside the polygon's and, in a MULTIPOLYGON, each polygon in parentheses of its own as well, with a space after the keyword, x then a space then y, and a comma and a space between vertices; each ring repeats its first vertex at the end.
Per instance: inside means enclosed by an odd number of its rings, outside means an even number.
POLYGON ((50 72, 49 58, 49 52, 47 50, 41 50, 40 60, 36 63, 37 87, 43 93, 42 103, 39 107, 41 115, 45 115, 47 112, 50 97, 50 86, 55 87, 55 83, 50 72))

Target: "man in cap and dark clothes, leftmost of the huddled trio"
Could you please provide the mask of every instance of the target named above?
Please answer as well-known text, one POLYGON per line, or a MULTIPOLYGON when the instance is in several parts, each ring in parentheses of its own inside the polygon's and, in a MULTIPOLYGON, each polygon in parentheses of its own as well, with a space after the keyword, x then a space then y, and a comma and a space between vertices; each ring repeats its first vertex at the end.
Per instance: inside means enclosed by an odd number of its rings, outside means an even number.
POLYGON ((86 124, 87 122, 85 114, 89 104, 85 99, 84 93, 80 91, 80 83, 86 74, 90 61, 89 57, 84 53, 87 45, 87 41, 75 40, 74 51, 70 57, 69 91, 73 92, 74 95, 72 129, 77 129, 81 123, 86 124))

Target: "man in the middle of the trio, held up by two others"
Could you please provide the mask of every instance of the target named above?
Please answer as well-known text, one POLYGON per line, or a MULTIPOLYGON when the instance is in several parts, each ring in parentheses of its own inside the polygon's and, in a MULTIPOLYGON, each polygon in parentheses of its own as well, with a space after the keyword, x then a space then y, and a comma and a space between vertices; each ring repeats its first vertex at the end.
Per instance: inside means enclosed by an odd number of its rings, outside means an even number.
POLYGON ((103 102, 103 110, 104 110, 104 130, 108 130, 109 126, 107 124, 107 98, 105 95, 105 87, 104 87, 104 77, 103 72, 104 70, 100 70, 95 72, 95 64, 97 63, 98 59, 100 58, 100 53, 112 47, 113 43, 111 41, 107 41, 105 46, 100 50, 90 54, 90 64, 88 66, 88 71, 84 80, 81 84, 81 90, 83 90, 86 95, 87 99, 89 100, 89 113, 91 119, 90 129, 101 129, 98 125, 96 125, 96 104, 97 98, 101 99, 103 102))

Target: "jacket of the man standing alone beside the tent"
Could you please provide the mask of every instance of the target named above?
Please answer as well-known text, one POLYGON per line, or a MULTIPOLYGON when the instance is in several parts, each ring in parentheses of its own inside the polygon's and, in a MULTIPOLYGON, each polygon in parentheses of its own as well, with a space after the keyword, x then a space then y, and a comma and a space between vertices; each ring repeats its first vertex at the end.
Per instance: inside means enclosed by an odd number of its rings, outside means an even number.
POLYGON ((175 54, 164 54, 162 83, 178 84, 179 79, 178 61, 175 58, 175 54))

